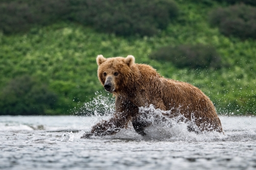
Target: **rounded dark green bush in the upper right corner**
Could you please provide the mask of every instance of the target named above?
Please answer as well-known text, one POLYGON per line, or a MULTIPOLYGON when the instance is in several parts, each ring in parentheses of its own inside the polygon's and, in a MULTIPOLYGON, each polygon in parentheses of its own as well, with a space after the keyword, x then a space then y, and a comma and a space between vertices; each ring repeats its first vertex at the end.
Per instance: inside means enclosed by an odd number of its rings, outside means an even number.
POLYGON ((244 4, 218 8, 209 14, 212 26, 225 36, 241 39, 256 38, 256 8, 244 4))

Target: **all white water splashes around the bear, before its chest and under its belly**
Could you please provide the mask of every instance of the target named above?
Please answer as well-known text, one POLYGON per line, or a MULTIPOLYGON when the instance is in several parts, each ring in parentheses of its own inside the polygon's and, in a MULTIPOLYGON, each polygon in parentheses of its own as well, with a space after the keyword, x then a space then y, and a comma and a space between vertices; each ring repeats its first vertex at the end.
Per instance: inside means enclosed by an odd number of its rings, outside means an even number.
MULTIPOLYGON (((115 111, 115 99, 110 95, 105 95, 97 92, 97 97, 92 101, 85 103, 81 109, 82 115, 94 117, 91 126, 102 120, 108 120, 115 111)), ((190 132, 188 126, 197 129, 195 123, 185 118, 183 115, 175 113, 174 118, 169 118, 168 115, 173 114, 172 110, 156 109, 153 105, 148 107, 139 107, 141 119, 149 122, 150 126, 144 129, 146 136, 141 136, 136 133, 130 122, 127 129, 120 130, 117 134, 105 136, 104 138, 130 138, 130 139, 157 139, 157 140, 185 140, 185 141, 209 141, 223 140, 225 136, 218 132, 190 132), (145 115, 143 117, 143 115, 145 115)))

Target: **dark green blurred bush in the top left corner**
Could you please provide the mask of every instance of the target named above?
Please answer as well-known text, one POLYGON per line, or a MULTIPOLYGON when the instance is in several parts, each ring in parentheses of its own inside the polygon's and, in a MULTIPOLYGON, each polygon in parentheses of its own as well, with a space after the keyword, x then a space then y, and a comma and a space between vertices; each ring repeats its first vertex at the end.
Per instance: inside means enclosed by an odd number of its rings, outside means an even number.
POLYGON ((0 3, 0 30, 4 33, 28 31, 33 25, 47 25, 70 13, 68 0, 24 0, 0 3))

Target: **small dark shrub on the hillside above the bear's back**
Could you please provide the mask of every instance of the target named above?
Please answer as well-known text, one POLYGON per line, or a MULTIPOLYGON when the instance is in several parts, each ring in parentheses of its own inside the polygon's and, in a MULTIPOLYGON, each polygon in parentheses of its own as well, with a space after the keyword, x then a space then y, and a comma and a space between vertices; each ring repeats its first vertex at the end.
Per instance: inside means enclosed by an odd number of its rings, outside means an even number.
POLYGON ((211 45, 167 46, 153 52, 149 58, 162 62, 172 62, 178 68, 219 68, 220 56, 211 45))

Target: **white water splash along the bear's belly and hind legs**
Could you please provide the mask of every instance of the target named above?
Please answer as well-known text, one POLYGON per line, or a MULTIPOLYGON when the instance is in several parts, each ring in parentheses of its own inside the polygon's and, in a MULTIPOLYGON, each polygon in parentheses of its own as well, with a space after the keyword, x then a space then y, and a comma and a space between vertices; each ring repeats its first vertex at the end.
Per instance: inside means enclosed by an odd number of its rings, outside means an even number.
POLYGON ((151 125, 144 129, 146 133, 145 136, 134 135, 132 132, 136 133, 133 126, 130 124, 129 130, 122 130, 114 137, 127 138, 140 137, 140 139, 145 140, 168 140, 168 141, 213 141, 213 140, 223 140, 226 136, 219 132, 190 132, 188 126, 193 126, 195 129, 197 126, 194 124, 193 120, 190 121, 186 119, 183 115, 177 114, 174 118, 169 118, 165 115, 172 114, 172 110, 161 110, 156 109, 153 105, 148 107, 140 107, 139 112, 141 115, 146 115, 141 117, 141 120, 149 122, 151 125))

